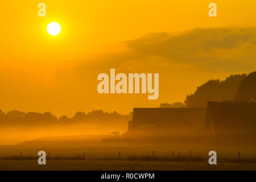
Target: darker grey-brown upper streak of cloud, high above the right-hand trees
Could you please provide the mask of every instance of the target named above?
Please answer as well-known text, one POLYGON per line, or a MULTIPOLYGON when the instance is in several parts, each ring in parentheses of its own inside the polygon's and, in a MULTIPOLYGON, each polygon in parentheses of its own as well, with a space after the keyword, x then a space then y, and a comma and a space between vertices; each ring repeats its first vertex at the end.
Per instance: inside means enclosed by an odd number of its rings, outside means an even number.
POLYGON ((126 42, 134 51, 172 55, 212 49, 233 49, 251 40, 255 44, 255 29, 197 28, 179 36, 166 33, 148 34, 126 42))

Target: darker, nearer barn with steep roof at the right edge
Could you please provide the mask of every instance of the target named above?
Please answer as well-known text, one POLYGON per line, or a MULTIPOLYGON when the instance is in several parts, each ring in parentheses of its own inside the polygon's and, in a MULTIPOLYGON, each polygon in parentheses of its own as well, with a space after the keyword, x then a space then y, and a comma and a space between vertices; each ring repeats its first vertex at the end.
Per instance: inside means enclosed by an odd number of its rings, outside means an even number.
POLYGON ((222 139, 256 137, 256 103, 208 102, 204 136, 222 139))

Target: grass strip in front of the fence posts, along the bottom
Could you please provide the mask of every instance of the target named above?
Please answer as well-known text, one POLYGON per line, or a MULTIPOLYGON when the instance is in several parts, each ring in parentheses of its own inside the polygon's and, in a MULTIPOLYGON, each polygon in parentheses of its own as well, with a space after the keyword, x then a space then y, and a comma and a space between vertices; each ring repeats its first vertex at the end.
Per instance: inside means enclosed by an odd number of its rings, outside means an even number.
POLYGON ((0 160, 0 170, 256 170, 256 164, 130 160, 0 160))

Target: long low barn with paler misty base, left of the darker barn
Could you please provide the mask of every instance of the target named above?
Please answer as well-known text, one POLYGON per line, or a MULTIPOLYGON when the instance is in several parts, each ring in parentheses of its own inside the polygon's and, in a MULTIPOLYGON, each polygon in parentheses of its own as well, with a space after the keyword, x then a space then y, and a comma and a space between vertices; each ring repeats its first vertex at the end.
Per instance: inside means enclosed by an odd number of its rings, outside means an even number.
POLYGON ((134 108, 129 132, 140 137, 178 137, 203 128, 205 108, 134 108))

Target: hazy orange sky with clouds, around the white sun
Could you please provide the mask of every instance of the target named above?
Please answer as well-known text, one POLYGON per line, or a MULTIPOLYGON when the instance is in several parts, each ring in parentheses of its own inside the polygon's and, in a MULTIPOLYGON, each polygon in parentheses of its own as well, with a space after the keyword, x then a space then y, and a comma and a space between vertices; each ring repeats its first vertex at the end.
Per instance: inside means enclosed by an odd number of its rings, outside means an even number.
POLYGON ((256 1, 1 1, 0 109, 121 113, 184 101, 210 78, 256 68, 256 1), (38 3, 46 3, 46 17, 38 3), (217 17, 208 16, 210 2, 217 17), (58 36, 47 34, 58 22, 58 36), (159 99, 98 94, 97 75, 159 73, 159 99))

